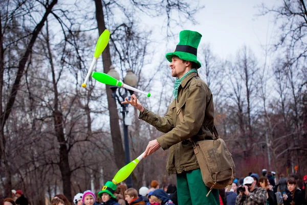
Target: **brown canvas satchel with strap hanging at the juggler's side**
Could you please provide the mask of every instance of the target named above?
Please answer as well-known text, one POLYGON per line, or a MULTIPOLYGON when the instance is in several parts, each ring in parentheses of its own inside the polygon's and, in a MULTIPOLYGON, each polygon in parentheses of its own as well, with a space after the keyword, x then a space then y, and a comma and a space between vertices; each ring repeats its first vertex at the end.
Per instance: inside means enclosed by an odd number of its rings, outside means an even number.
MULTIPOLYGON (((177 106, 176 110, 180 121, 183 121, 181 109, 177 106)), ((194 147, 194 153, 199 163, 202 178, 210 191, 212 189, 223 189, 232 185, 235 178, 235 166, 232 155, 228 151, 225 141, 218 136, 215 126, 213 126, 215 139, 205 139, 201 141, 190 141, 194 147)))

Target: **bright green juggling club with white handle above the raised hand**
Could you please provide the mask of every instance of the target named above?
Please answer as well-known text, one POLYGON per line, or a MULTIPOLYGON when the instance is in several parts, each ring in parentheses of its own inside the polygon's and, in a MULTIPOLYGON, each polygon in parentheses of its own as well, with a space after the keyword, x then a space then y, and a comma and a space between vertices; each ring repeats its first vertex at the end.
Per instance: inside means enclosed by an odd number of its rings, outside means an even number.
POLYGON ((122 83, 121 81, 115 79, 114 77, 109 76, 108 74, 93 72, 92 77, 95 78, 100 83, 110 85, 110 86, 123 87, 123 88, 126 88, 128 90, 132 90, 132 91, 135 91, 135 92, 138 92, 138 93, 142 93, 142 94, 147 95, 147 97, 150 97, 150 93, 145 93, 144 91, 141 91, 141 90, 136 89, 134 87, 128 86, 128 85, 122 83))

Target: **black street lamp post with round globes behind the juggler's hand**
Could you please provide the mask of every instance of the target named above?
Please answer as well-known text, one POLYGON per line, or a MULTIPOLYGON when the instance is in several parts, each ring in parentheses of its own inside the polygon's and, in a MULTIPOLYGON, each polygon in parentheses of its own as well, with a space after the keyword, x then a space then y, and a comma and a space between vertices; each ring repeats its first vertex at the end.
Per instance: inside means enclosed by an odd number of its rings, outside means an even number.
MULTIPOLYGON (((114 77, 115 79, 119 80, 119 73, 115 70, 115 67, 112 65, 110 67, 108 75, 114 77)), ((132 72, 132 70, 127 70, 127 74, 124 77, 124 83, 131 87, 136 87, 137 85, 137 76, 132 72)), ((123 115, 123 126, 124 126, 124 147, 125 147, 125 163, 126 165, 130 162, 130 149, 129 149, 129 138, 128 138, 128 126, 131 125, 131 119, 127 117, 128 114, 128 104, 121 104, 122 101, 125 101, 125 98, 128 97, 129 94, 132 95, 133 91, 127 90, 125 88, 117 87, 117 86, 110 86, 112 90, 112 97, 117 100, 119 105, 121 106, 121 113, 123 115), (117 91, 117 92, 116 92, 117 91)), ((132 177, 131 175, 127 178, 127 187, 132 187, 132 177)))

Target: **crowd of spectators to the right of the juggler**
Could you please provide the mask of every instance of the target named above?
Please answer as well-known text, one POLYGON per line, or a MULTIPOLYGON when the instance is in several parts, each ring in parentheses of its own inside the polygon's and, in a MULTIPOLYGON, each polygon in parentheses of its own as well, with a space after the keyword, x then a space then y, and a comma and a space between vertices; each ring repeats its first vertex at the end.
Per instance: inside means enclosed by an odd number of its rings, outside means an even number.
POLYGON ((306 205, 307 175, 303 180, 296 176, 275 178, 275 172, 262 170, 262 176, 249 173, 245 178, 235 179, 231 189, 220 190, 220 204, 227 205, 306 205))

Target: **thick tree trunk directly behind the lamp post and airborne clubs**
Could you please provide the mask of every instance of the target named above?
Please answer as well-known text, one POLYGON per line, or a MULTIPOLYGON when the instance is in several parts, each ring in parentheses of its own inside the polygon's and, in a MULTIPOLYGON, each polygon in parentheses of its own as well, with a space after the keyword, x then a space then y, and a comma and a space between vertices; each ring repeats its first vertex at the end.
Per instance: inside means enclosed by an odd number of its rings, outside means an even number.
MULTIPOLYGON (((101 0, 95 0, 95 5, 96 5, 96 20, 100 35, 106 29, 101 0)), ((109 45, 107 45, 104 51, 102 52, 102 61, 103 61, 103 71, 104 73, 107 73, 109 71, 110 66, 112 65, 109 45)), ((110 114, 110 126, 111 126, 113 149, 114 153, 116 154, 115 162, 118 169, 120 169, 125 165, 125 152, 120 133, 117 104, 116 100, 112 97, 112 91, 109 88, 109 86, 106 86, 106 95, 107 95, 108 110, 110 114)), ((126 151, 129 152, 129 150, 126 151)))

